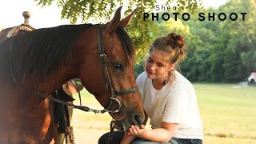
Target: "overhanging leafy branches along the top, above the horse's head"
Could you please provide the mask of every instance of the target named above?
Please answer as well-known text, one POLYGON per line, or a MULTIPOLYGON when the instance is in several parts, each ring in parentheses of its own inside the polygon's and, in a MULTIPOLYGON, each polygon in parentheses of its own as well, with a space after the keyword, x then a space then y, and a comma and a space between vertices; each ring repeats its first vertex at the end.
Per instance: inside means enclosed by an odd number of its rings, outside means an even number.
MULTIPOLYGON (((38 2, 39 6, 50 6, 57 3, 58 7, 62 8, 62 18, 70 19, 70 23, 74 24, 78 22, 78 18, 82 18, 82 22, 107 22, 110 20, 114 10, 117 10, 118 6, 124 6, 125 14, 130 14, 135 8, 137 12, 133 18, 131 24, 127 27, 127 31, 130 37, 134 40, 134 44, 137 48, 138 62, 144 57, 143 51, 150 45, 150 33, 149 31, 156 32, 157 26, 151 20, 143 20, 144 13, 152 13, 155 10, 157 0, 127 0, 124 3, 122 0, 34 0, 38 2)), ((166 7, 171 6, 172 3, 176 3, 177 10, 171 10, 170 13, 181 11, 181 7, 192 13, 198 7, 202 6, 201 0, 168 0, 166 7)))

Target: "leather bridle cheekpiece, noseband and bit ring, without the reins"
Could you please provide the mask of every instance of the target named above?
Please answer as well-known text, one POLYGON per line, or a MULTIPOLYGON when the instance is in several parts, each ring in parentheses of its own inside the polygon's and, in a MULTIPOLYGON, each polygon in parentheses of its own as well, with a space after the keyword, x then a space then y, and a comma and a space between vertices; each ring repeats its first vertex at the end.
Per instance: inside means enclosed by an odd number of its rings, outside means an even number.
POLYGON ((98 26, 98 32, 97 32, 97 38, 98 38, 98 52, 99 52, 99 58, 102 62, 102 67, 103 67, 103 74, 105 77, 105 82, 106 82, 106 90, 109 89, 111 90, 111 96, 110 96, 110 102, 107 107, 104 107, 104 109, 109 112, 109 113, 119 113, 120 109, 122 107, 121 102, 118 101, 117 98, 115 98, 117 95, 125 95, 125 94, 130 94, 138 91, 137 87, 133 87, 127 90, 114 90, 113 86, 111 85, 111 80, 110 80, 110 74, 107 69, 107 61, 106 61, 106 54, 103 46, 103 38, 102 38, 102 25, 98 26), (111 105, 113 102, 116 101, 118 102, 118 109, 117 110, 110 110, 111 105))

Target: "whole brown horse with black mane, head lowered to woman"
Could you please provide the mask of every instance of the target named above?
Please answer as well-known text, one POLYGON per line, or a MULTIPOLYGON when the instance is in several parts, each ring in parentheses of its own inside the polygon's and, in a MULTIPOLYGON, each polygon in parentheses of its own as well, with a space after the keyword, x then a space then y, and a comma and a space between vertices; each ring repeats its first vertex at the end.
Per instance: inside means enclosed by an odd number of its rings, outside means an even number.
POLYGON ((49 96, 72 78, 121 125, 141 126, 144 113, 137 90, 134 45, 119 7, 106 24, 65 25, 17 34, 0 43, 0 143, 55 140, 49 96))

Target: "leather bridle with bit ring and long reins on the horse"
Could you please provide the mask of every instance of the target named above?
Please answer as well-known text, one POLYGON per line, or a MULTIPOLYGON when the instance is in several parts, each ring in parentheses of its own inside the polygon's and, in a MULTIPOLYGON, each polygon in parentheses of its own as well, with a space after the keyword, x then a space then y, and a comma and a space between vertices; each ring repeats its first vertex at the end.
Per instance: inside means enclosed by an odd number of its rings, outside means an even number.
POLYGON ((122 108, 122 105, 121 105, 121 102, 119 102, 118 99, 115 98, 115 97, 117 95, 124 95, 124 94, 134 93, 134 92, 138 91, 138 88, 133 87, 133 88, 130 88, 130 89, 127 89, 127 90, 114 90, 113 86, 111 85, 110 75, 109 75, 108 68, 107 68, 106 54, 105 54, 105 51, 104 51, 103 40, 102 40, 103 39, 102 38, 102 25, 98 26, 97 35, 98 35, 97 38, 98 38, 99 58, 102 62, 103 74, 104 74, 104 77, 106 79, 106 90, 108 90, 109 87, 110 87, 110 90, 111 90, 110 102, 109 102, 107 107, 104 107, 104 110, 94 110, 94 109, 91 109, 87 106, 77 106, 77 105, 74 105, 73 103, 64 102, 62 100, 59 100, 58 98, 50 97, 50 95, 45 94, 41 91, 34 90, 34 89, 32 89, 28 86, 22 85, 20 82, 18 82, 18 79, 14 77, 14 70, 13 70, 13 67, 12 67, 12 54, 11 54, 12 53, 12 43, 9 40, 9 42, 10 42, 10 55, 9 55, 9 58, 10 58, 10 73, 11 73, 11 76, 12 76, 14 82, 16 84, 18 84, 18 86, 21 86, 24 90, 30 90, 32 93, 34 93, 34 94, 36 94, 40 97, 48 98, 51 101, 62 103, 63 105, 69 106, 71 108, 77 108, 79 110, 83 110, 83 111, 86 111, 86 112, 94 112, 95 114, 98 114, 98 113, 102 114, 102 113, 105 113, 105 112, 109 112, 109 113, 112 113, 112 114, 119 113, 120 109, 122 108), (118 109, 117 110, 110 110, 114 101, 118 102, 118 109))

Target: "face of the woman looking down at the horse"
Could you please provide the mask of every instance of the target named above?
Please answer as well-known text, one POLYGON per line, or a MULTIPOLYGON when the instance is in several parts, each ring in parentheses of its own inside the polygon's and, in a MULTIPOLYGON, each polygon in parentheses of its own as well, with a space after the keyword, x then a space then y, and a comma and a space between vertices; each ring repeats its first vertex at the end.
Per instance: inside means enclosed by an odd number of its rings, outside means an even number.
POLYGON ((173 66, 167 62, 162 52, 154 50, 146 58, 145 70, 148 78, 164 81, 173 66))

